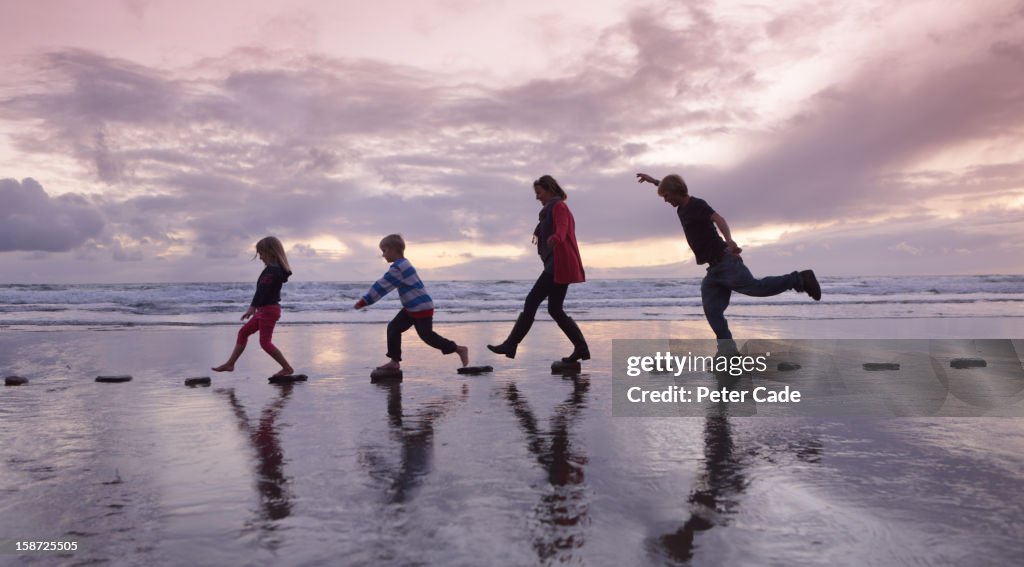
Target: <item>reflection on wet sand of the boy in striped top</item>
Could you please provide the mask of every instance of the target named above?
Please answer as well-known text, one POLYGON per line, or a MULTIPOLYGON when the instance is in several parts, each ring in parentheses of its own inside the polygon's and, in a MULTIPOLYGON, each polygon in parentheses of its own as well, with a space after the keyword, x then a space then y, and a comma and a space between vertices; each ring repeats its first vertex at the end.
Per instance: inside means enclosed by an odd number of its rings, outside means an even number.
POLYGON ((378 453, 379 447, 365 447, 359 461, 371 476, 389 481, 388 504, 411 500, 424 478, 433 470, 434 425, 452 409, 469 398, 469 385, 463 384, 460 393, 428 401, 416 411, 406 416, 401 405, 401 384, 377 384, 387 391, 388 426, 391 438, 401 444, 397 467, 378 453))

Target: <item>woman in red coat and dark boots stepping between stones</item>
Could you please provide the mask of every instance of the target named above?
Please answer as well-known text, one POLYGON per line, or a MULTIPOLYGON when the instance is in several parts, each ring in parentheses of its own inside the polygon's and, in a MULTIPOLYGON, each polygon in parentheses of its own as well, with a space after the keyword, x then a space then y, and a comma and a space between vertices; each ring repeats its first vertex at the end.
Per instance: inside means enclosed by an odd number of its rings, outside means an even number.
POLYGON ((572 342, 572 354, 562 360, 566 362, 588 360, 590 348, 583 337, 583 332, 562 310, 562 302, 565 301, 569 283, 586 280, 583 261, 580 259, 580 248, 575 242, 575 221, 568 206, 565 205, 567 199, 565 191, 554 177, 545 175, 534 181, 534 192, 543 205, 541 221, 534 230, 534 242, 537 243, 537 253, 544 262, 544 271, 526 296, 522 313, 519 313, 519 318, 516 319, 508 339, 500 345, 487 345, 487 348, 498 354, 515 358, 516 347, 534 324, 534 317, 537 316, 541 302, 547 299, 548 313, 572 342))

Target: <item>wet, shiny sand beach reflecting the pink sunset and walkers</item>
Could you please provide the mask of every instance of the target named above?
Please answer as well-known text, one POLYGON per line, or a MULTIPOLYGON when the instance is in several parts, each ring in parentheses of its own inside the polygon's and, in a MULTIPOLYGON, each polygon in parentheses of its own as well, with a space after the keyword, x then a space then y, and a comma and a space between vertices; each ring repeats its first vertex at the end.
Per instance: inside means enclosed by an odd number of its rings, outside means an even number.
MULTIPOLYGON (((1020 318, 743 320, 757 338, 1012 338, 1020 318)), ((435 329, 492 374, 462 376, 414 333, 404 380, 371 384, 383 324, 281 324, 308 382, 276 386, 234 328, 4 331, 0 539, 76 540, 27 564, 642 565, 1019 557, 1015 419, 614 418, 611 341, 706 338, 702 321, 581 322, 594 358, 541 318, 515 360, 505 321, 435 329), (127 374, 125 384, 100 375, 127 374), (189 388, 186 378, 210 376, 189 388)), ((9 556, 8 556, 9 557, 9 556)))

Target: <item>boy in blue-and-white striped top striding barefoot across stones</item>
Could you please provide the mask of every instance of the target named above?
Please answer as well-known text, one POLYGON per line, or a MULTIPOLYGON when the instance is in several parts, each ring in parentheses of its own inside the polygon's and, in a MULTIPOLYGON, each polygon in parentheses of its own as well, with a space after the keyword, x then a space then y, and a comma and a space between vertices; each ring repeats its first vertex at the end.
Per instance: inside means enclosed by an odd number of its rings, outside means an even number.
POLYGON ((401 367, 401 334, 412 326, 416 328, 416 334, 424 343, 444 354, 459 353, 462 365, 468 365, 469 349, 434 332, 434 302, 423 287, 416 268, 406 259, 406 241, 400 234, 388 234, 381 239, 380 247, 382 256, 391 262, 391 267, 354 306, 362 309, 379 301, 391 290, 398 289, 402 309, 387 324, 387 357, 391 360, 377 368, 396 370, 401 367))

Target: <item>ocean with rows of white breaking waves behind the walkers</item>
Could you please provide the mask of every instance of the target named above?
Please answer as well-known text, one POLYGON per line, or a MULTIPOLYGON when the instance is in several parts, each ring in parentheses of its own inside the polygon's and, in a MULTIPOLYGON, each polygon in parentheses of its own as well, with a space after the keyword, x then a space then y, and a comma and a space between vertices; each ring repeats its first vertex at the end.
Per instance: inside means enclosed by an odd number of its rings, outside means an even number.
MULTIPOLYGON (((1021 317, 1024 275, 821 277, 823 299, 795 292, 733 294, 730 320, 1021 317)), ((281 324, 378 323, 399 307, 392 293, 362 311, 370 282, 302 281, 283 291, 281 324)), ((427 281, 435 320, 514 320, 532 280, 427 281)), ((0 325, 13 329, 237 324, 254 282, 7 285, 0 325)), ((598 279, 572 286, 565 309, 583 321, 702 320, 700 278, 598 279)))

